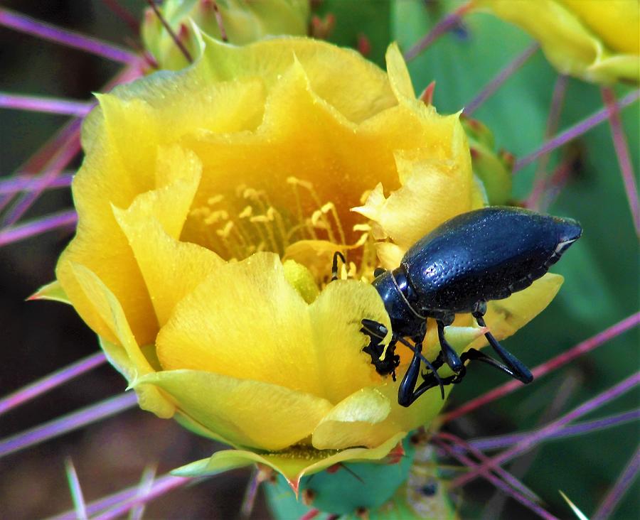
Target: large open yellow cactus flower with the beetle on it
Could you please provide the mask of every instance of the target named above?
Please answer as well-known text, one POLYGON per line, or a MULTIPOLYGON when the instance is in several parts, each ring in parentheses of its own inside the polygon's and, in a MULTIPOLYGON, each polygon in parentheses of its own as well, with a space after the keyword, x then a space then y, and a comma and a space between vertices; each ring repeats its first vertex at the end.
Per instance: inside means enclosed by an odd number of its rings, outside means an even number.
MULTIPOLYGON (((236 448, 183 474, 260 462, 295 487, 386 457, 437 416, 439 389, 398 405, 361 320, 389 326, 374 267, 482 190, 458 115, 416 99, 396 45, 385 74, 306 38, 200 38, 188 69, 98 96, 73 181, 78 231, 38 296, 68 299, 142 408, 236 448), (348 264, 330 282, 334 251, 348 264)), ((492 306, 496 335, 559 284, 548 275, 492 306)), ((483 330, 447 337, 462 352, 483 330)), ((426 343, 435 357, 432 332, 426 343)))

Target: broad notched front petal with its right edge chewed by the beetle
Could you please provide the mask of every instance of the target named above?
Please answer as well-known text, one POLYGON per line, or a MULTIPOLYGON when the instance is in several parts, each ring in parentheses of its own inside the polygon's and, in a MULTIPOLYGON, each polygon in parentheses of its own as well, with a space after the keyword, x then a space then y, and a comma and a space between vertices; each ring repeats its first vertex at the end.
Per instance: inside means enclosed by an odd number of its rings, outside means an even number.
POLYGON ((337 403, 377 381, 361 352, 363 318, 390 327, 370 284, 338 280, 307 305, 277 255, 255 254, 221 266, 177 305, 158 357, 165 369, 242 374, 337 403))

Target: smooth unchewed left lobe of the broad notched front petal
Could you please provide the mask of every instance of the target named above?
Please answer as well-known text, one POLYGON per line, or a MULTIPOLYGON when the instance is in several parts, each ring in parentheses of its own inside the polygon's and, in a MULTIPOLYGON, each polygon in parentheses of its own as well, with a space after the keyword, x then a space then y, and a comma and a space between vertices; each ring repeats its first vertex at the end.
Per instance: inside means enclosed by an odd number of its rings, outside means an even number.
POLYGON ((193 369, 321 395, 307 304, 276 254, 213 271, 178 305, 156 345, 166 370, 193 369))

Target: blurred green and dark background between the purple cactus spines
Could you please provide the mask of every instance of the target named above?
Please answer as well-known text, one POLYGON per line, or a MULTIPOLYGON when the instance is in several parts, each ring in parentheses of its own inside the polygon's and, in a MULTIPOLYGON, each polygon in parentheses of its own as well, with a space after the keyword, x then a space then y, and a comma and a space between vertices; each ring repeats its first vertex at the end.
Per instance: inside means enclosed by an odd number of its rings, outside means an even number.
MULTIPOLYGON (((135 39, 134 33, 105 4, 100 0, 2 2, 2 6, 43 21, 127 45, 135 39)), ((137 16, 146 5, 140 0, 122 0, 120 4, 137 16)), ((406 51, 445 13, 459 5, 455 1, 325 0, 314 12, 321 17, 334 14, 335 26, 329 40, 355 46, 358 38, 365 36, 371 45, 369 58, 384 67, 384 52, 390 41, 398 41, 406 51)), ((419 93, 435 80, 434 105, 438 111, 457 112, 530 43, 518 28, 486 14, 472 13, 412 60, 409 68, 415 90, 419 93)), ((100 90, 118 70, 117 65, 100 58, 4 28, 0 28, 0 63, 1 91, 72 99, 89 99, 90 92, 100 90)), ((555 70, 538 51, 474 113, 494 132, 498 148, 521 157, 543 142, 556 77, 555 70)), ((622 97, 631 89, 615 90, 622 97)), ((559 129, 600 107, 598 87, 570 79, 559 129)), ((622 119, 637 173, 639 103, 625 109, 622 119)), ((0 175, 14 173, 65 120, 1 109, 0 175)), ((572 146, 580 160, 575 162, 567 185, 548 211, 580 220, 583 237, 553 268, 565 276, 558 298, 530 325, 504 342, 530 367, 617 323, 639 307, 638 242, 608 124, 592 129, 572 146)), ((560 153, 554 153, 550 168, 559 160, 560 153)), ((514 200, 522 200, 530 193, 534 173, 535 164, 516 174, 514 200)), ((42 197, 29 216, 70 205, 68 190, 55 190, 42 197)), ((0 395, 97 350, 95 337, 72 309, 53 303, 23 302, 53 278, 55 259, 69 238, 68 232, 52 232, 0 249, 4 347, 0 354, 0 395)), ((566 413, 634 373, 640 367, 639 340, 637 330, 626 332, 570 366, 446 428, 464 438, 533 428, 550 401, 568 385, 567 399, 556 415, 566 413)), ((472 367, 464 384, 452 393, 449 408, 504 380, 494 370, 472 367)), ((0 435, 16 433, 123 389, 124 380, 110 367, 102 367, 46 398, 12 411, 0 422, 0 435)), ((639 398, 638 391, 630 392, 587 418, 637 407, 639 398)), ((554 514, 570 516, 558 494, 562 489, 588 515, 634 454, 639 433, 637 423, 630 423, 581 438, 546 443, 535 454, 523 481, 554 514)), ((159 472, 164 472, 204 457, 211 450, 210 443, 191 437, 171 421, 129 411, 0 460, 0 473, 8 475, 11 471, 13 476, 0 482, 0 504, 4 504, 0 505, 0 516, 31 518, 68 509, 71 504, 63 477, 63 458, 67 454, 73 456, 78 467, 86 498, 97 499, 137 482, 146 464, 159 461, 159 472)), ((171 494, 152 504, 148 516, 235 517, 247 475, 234 472, 171 494)), ((462 516, 481 517, 493 494, 493 487, 481 480, 465 487, 462 516)), ((615 517, 636 517, 640 507, 637 497, 640 486, 636 482, 615 517)), ((501 517, 512 518, 516 514, 518 518, 534 517, 511 501, 501 517)), ((260 501, 254 517, 266 515, 260 501)))

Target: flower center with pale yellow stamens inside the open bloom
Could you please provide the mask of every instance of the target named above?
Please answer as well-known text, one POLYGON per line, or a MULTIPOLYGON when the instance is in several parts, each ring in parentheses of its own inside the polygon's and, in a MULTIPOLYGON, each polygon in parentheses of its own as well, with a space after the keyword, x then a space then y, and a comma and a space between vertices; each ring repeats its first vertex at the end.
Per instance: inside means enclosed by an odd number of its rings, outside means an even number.
POLYGON ((331 258, 341 251, 350 261, 341 278, 367 278, 375 268, 375 247, 368 224, 353 226, 354 244, 347 244, 340 212, 331 201, 322 201, 312 183, 287 178, 291 191, 289 207, 273 205, 269 193, 238 185, 231 194, 209 197, 188 216, 183 237, 196 242, 228 261, 247 258, 258 251, 274 251, 283 259, 306 265, 325 283, 331 272, 331 258), (304 208, 312 208, 304 209, 304 208))

